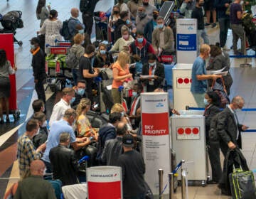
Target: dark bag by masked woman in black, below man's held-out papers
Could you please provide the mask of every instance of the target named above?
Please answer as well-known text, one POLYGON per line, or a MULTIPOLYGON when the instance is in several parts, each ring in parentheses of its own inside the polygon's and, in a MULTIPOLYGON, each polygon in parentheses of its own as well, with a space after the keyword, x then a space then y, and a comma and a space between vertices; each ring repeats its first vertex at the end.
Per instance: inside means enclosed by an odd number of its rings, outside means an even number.
POLYGON ((218 96, 220 97, 220 108, 225 108, 227 104, 229 104, 230 99, 228 98, 227 91, 225 89, 225 84, 223 77, 220 77, 221 83, 216 82, 216 80, 213 80, 212 86, 210 87, 210 90, 216 92, 218 96))

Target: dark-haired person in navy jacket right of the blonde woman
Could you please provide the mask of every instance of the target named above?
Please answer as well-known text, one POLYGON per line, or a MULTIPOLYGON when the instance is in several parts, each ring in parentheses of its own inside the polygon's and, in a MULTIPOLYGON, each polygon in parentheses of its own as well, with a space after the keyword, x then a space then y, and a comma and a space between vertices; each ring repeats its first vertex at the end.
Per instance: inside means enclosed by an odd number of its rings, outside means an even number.
POLYGON ((99 148, 97 151, 97 157, 100 158, 107 140, 114 139, 116 137, 116 128, 121 121, 122 114, 119 112, 110 113, 109 122, 99 129, 99 148))

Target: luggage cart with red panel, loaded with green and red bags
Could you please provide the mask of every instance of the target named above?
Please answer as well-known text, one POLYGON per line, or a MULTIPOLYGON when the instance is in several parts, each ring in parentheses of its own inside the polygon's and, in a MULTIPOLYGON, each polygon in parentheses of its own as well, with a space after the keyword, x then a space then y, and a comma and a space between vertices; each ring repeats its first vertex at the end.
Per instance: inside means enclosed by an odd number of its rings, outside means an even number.
POLYGON ((69 46, 46 46, 46 90, 50 87, 52 92, 62 90, 67 83, 73 82, 73 75, 70 68, 65 66, 65 58, 69 46), (69 81, 68 81, 69 80, 69 81))

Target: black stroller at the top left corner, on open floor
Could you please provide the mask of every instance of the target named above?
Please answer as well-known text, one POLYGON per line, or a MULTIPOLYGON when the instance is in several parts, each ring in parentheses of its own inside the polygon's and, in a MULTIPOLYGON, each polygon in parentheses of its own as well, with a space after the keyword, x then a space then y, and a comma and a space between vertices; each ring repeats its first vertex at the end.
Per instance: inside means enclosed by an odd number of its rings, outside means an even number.
MULTIPOLYGON (((21 16, 21 11, 9 11, 4 16, 0 14, 1 25, 4 27, 0 29, 0 33, 13 33, 15 35, 17 28, 23 28, 21 16)), ((19 46, 23 44, 22 41, 18 41, 15 36, 14 42, 18 43, 19 46)))

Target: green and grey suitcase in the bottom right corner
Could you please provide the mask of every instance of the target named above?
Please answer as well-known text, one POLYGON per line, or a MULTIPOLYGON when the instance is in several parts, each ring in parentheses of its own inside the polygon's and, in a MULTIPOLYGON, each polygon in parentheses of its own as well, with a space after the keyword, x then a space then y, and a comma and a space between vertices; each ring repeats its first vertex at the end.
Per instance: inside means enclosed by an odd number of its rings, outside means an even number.
POLYGON ((255 180, 252 171, 235 168, 229 174, 230 190, 233 199, 256 198, 255 180))

